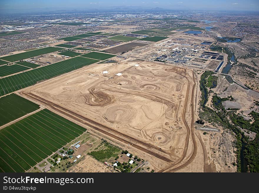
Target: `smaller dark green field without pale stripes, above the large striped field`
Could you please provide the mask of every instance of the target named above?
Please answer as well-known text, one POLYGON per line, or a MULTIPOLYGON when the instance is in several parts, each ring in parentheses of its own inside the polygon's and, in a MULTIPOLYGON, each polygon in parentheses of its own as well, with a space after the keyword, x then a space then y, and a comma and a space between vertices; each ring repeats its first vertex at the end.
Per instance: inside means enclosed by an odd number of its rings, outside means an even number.
POLYGON ((0 98, 0 126, 39 109, 39 105, 14 93, 0 98))

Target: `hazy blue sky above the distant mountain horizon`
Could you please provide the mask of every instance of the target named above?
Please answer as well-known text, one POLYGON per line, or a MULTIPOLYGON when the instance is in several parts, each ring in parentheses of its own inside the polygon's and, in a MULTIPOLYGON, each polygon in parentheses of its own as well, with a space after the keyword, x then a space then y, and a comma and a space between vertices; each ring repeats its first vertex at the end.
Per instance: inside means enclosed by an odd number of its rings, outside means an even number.
POLYGON ((259 0, 0 0, 0 11, 95 10, 116 7, 171 10, 258 11, 259 0))

